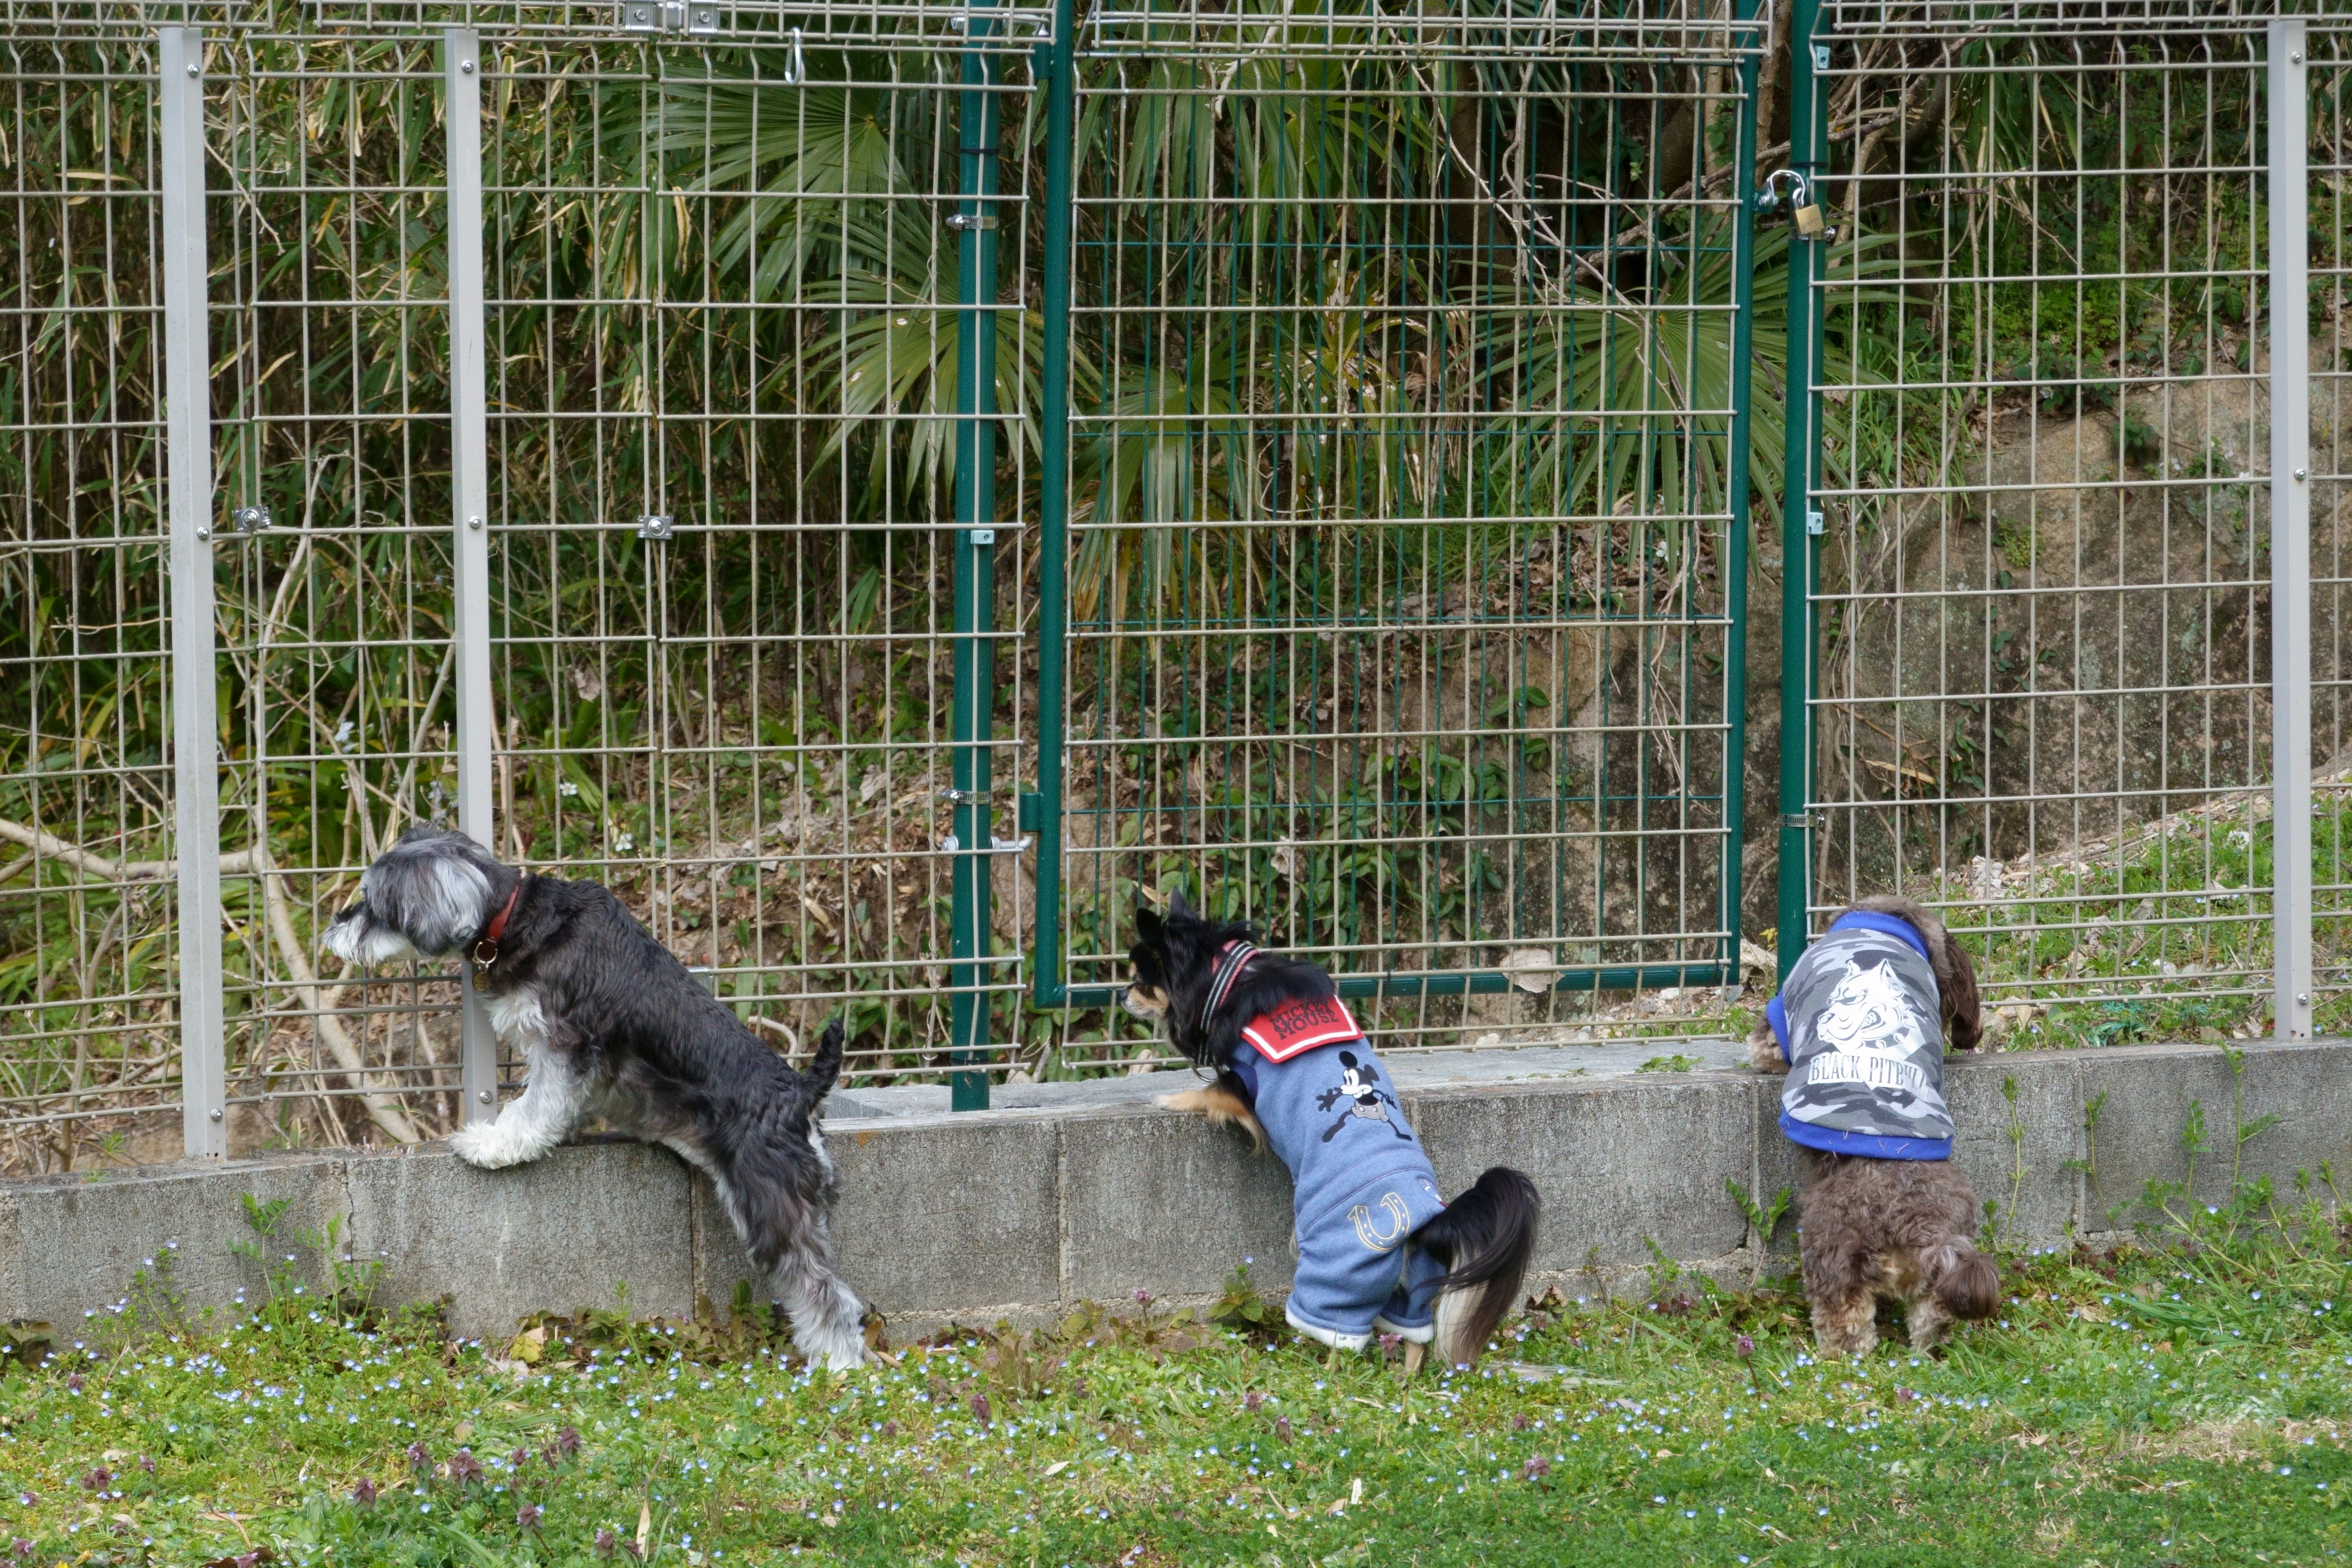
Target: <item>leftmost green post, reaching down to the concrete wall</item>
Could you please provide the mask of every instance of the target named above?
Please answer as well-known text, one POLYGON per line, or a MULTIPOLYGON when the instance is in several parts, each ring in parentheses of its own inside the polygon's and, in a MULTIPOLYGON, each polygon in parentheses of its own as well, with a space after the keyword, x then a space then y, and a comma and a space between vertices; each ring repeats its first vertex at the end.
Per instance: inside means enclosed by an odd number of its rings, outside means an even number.
POLYGON ((988 729, 997 691, 997 94, 988 38, 988 0, 967 12, 962 183, 955 216, 962 233, 955 331, 955 853, 950 912, 948 1074, 950 1110, 988 1110, 988 867, 995 823, 988 811, 988 729))

